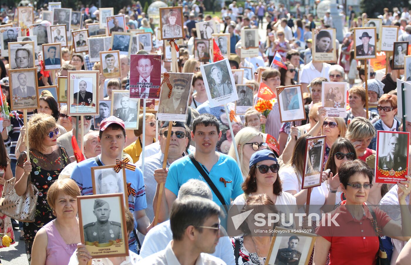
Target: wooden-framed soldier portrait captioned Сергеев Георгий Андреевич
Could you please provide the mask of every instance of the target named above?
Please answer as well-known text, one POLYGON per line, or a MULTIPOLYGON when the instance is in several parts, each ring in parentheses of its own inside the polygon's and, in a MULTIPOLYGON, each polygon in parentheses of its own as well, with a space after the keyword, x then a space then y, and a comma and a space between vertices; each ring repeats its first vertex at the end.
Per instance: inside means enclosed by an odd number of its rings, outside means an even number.
MULTIPOLYGON (((86 249, 90 253, 92 258, 109 258, 109 257, 118 257, 118 256, 128 256, 129 249, 128 249, 128 238, 127 238, 127 228, 126 228, 126 219, 125 219, 125 203, 124 203, 124 196, 121 193, 114 193, 114 194, 97 194, 97 195, 88 195, 88 196, 77 196, 77 204, 79 208, 79 223, 80 223, 80 238, 81 242, 85 244, 86 249), (103 201, 96 201, 96 200, 103 200, 103 201), (104 203, 106 202, 106 203, 104 203), (104 204, 102 204, 104 203, 104 204), (94 226, 96 218, 90 216, 91 209, 101 205, 103 207, 105 204, 109 204, 109 218, 106 217, 108 220, 118 220, 120 222, 115 222, 115 225, 118 226, 120 223, 120 230, 119 231, 107 231, 108 234, 111 234, 111 238, 113 240, 107 240, 108 242, 99 243, 96 241, 95 236, 97 232, 100 232, 98 228, 96 228, 94 233, 89 235, 89 231, 85 231, 92 229, 88 228, 90 226, 94 226), (113 207, 114 206, 114 207, 113 207), (114 214, 112 213, 112 211, 114 214), (94 222, 93 222, 94 221, 94 222), (117 234, 117 238, 115 236, 117 234), (94 236, 94 237, 93 237, 94 236), (121 239, 120 239, 121 236, 121 239), (86 239, 89 239, 85 243, 86 239), (92 240, 92 241, 91 241, 92 240)), ((100 208, 97 207, 97 208, 100 208)), ((97 209, 96 208, 96 209, 97 209)), ((113 223, 113 221, 112 221, 113 223)), ((98 239, 98 237, 97 237, 98 239)))

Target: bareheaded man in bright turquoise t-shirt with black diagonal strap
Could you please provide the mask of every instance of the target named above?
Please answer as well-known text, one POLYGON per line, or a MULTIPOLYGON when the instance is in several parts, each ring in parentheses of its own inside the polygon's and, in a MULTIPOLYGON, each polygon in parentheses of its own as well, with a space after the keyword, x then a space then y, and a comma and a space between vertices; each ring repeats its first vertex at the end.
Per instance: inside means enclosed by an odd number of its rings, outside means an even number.
MULTIPOLYGON (((194 159, 199 162, 205 174, 217 187, 218 192, 224 199, 224 205, 230 205, 231 199, 235 199, 243 193, 241 189, 243 179, 236 160, 215 151, 215 146, 220 137, 219 122, 215 116, 205 113, 194 119, 191 133, 191 138, 196 143, 196 151, 193 153, 194 159)), ((169 210, 175 199, 177 199, 181 185, 192 178, 207 182, 188 155, 171 163, 169 169, 156 169, 154 173, 157 181, 157 191, 159 190, 159 183, 166 182, 159 211, 159 222, 168 219, 169 210)), ((212 200, 217 205, 222 205, 223 203, 218 199, 215 191, 212 188, 211 190, 212 200)), ((157 191, 153 201, 154 212, 157 208, 157 191)))

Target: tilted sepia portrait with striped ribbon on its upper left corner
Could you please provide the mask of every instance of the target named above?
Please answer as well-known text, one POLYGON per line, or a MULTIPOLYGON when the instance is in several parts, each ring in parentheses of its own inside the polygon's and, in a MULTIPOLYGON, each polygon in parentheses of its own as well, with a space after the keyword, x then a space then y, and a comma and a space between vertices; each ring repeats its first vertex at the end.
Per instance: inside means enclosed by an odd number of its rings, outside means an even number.
POLYGON ((159 121, 186 121, 192 73, 164 73, 158 107, 159 121))

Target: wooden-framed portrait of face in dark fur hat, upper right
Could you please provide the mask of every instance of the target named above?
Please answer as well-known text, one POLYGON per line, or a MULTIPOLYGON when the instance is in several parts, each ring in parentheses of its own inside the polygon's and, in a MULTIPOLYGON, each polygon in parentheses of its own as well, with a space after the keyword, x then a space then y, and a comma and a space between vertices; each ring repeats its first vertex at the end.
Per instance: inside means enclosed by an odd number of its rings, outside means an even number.
POLYGON ((335 36, 334 28, 312 29, 312 61, 313 62, 337 62, 335 53, 335 36))

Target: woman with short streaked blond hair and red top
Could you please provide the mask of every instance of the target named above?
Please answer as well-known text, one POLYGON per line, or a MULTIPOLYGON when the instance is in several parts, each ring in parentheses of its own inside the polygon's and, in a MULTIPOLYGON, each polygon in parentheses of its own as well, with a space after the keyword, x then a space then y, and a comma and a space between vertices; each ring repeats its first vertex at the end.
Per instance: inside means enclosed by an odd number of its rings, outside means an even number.
POLYGON ((358 159, 365 162, 365 158, 374 154, 375 151, 367 148, 372 138, 375 136, 375 128, 372 123, 364 117, 355 117, 351 120, 345 137, 349 139, 354 147, 358 159))

